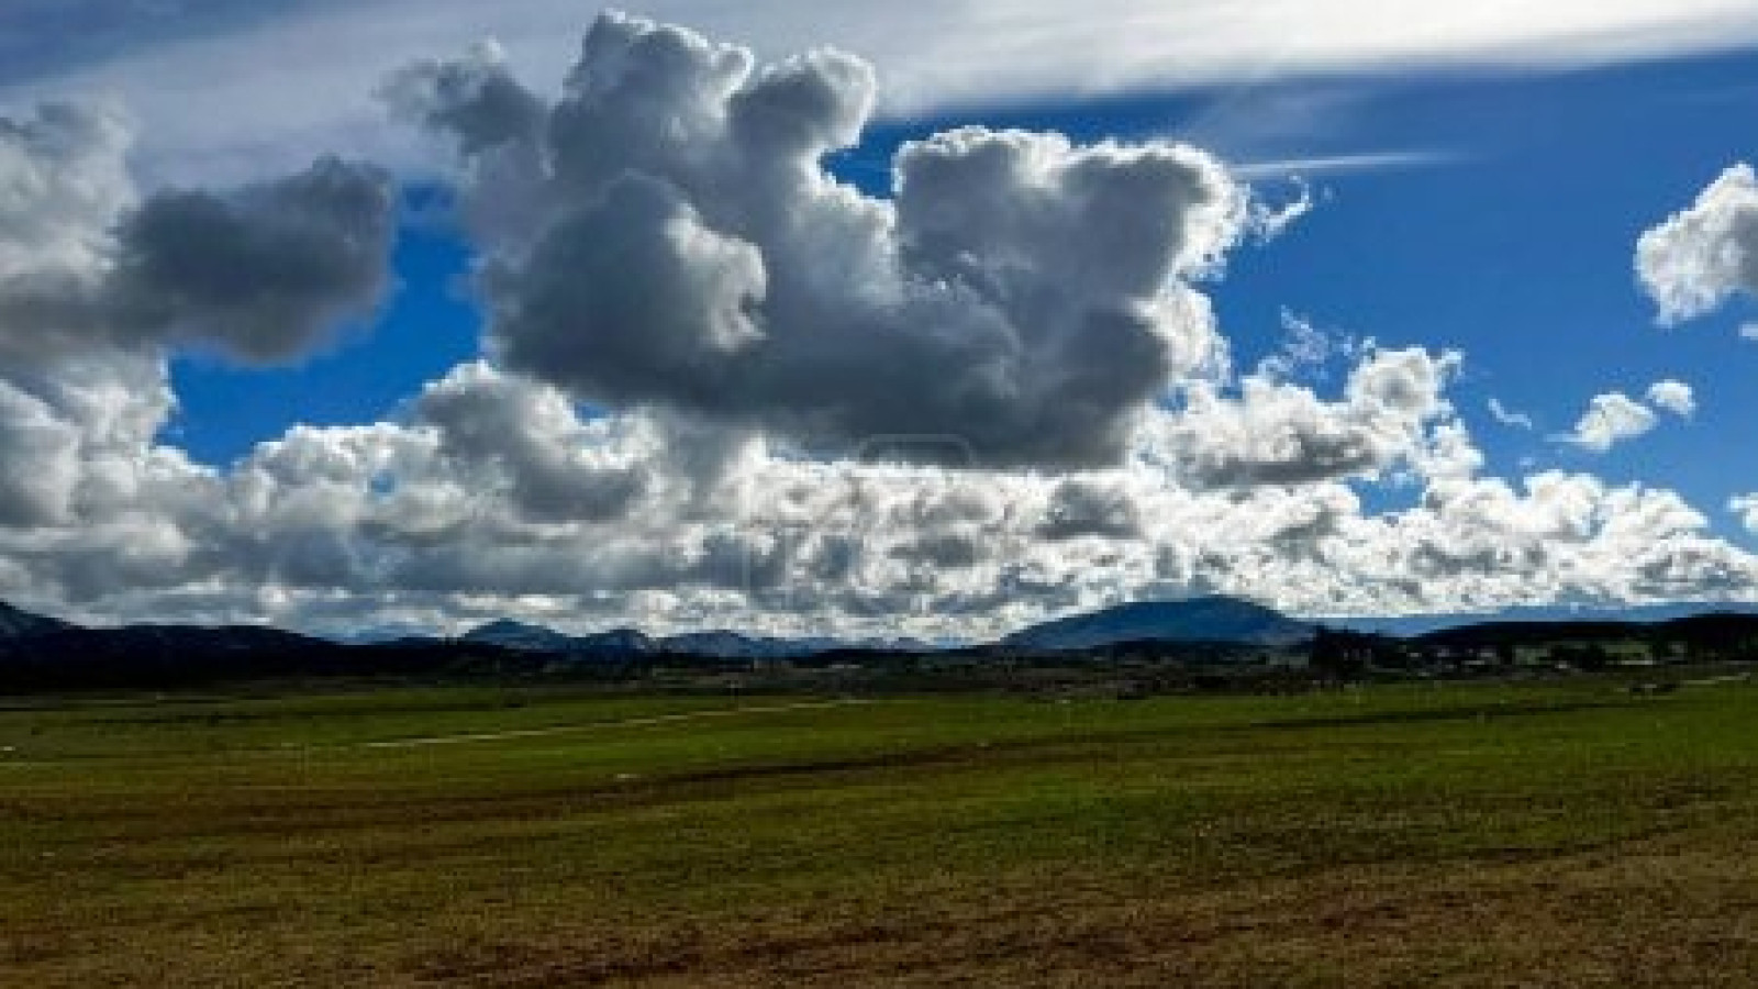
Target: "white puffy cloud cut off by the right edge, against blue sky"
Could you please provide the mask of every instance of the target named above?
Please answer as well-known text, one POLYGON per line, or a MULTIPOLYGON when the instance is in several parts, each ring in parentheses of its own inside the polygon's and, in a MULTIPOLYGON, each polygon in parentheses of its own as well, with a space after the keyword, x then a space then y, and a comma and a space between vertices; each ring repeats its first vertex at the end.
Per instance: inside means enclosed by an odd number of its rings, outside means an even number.
POLYGON ((1696 204, 1642 234, 1637 276, 1660 306, 1661 326, 1758 292, 1758 172, 1730 167, 1696 204))

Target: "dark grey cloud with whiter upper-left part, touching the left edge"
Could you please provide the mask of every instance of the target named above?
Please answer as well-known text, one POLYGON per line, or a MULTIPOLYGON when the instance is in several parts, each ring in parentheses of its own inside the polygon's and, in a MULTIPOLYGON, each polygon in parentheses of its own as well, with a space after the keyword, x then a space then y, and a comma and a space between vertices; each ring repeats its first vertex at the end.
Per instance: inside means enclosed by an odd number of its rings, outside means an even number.
POLYGON ((230 192, 135 202, 127 123, 98 107, 0 118, 0 347, 206 347, 280 363, 371 313, 389 282, 385 172, 323 158, 230 192))

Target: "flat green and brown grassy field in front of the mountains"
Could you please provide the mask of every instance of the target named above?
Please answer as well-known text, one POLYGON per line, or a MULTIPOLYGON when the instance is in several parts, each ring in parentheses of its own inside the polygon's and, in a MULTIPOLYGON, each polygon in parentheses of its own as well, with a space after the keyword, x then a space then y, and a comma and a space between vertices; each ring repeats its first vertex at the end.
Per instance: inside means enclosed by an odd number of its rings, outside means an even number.
POLYGON ((0 711, 0 985, 1753 985, 1758 686, 0 711))

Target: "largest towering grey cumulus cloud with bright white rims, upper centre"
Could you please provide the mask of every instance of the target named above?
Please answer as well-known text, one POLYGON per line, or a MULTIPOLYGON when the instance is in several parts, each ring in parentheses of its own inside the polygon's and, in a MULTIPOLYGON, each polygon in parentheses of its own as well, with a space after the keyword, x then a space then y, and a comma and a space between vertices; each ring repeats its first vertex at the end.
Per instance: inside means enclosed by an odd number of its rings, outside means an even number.
POLYGON ((531 100, 492 120, 496 72, 424 63, 476 81, 425 86, 418 116, 475 162, 473 215, 540 204, 485 231, 490 347, 580 399, 807 449, 956 436, 995 466, 1099 466, 1218 354, 1190 282, 1239 239, 1246 194, 1192 148, 962 128, 902 148, 879 201, 821 165, 874 104, 853 56, 758 67, 605 16, 543 127, 531 100))

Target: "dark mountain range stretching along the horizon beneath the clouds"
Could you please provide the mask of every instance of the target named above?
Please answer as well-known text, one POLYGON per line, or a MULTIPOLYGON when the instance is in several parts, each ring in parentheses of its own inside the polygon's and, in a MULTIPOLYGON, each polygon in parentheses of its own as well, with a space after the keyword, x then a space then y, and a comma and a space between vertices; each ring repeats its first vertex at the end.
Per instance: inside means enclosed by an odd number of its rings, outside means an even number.
MULTIPOLYGON (((1570 612, 1579 618, 1579 612, 1570 612)), ((1508 644, 1645 641, 1682 648, 1735 644, 1758 649, 1758 616, 1723 611, 1644 619, 1478 621, 1401 637, 1368 635, 1405 651, 1475 653, 1508 644), (1667 618, 1667 619, 1660 619, 1667 618)), ((1338 623, 1343 626, 1345 623, 1338 623)), ((1359 623, 1355 630, 1359 632, 1359 623)), ((0 604, 0 693, 86 686, 178 686, 237 679, 331 676, 533 676, 575 670, 598 676, 649 663, 749 663, 758 660, 861 662, 861 656, 958 653, 969 658, 1058 653, 1104 656, 1141 646, 1222 646, 1241 656, 1301 651, 1324 628, 1260 604, 1204 597, 1137 602, 1046 621, 986 646, 914 641, 779 639, 730 630, 654 637, 633 628, 568 635, 519 621, 494 621, 457 639, 332 641, 262 626, 130 625, 83 628, 0 604)))

